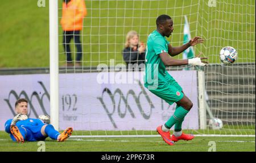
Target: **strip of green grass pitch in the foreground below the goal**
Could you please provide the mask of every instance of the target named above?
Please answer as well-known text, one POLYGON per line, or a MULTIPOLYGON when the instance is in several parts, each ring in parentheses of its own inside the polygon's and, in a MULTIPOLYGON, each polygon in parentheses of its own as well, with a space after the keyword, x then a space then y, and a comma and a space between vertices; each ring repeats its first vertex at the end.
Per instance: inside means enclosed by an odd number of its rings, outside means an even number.
MULTIPOLYGON (((74 132, 73 135, 76 135, 74 132)), ((93 151, 93 152, 208 152, 215 144, 216 152, 255 152, 255 137, 195 137, 191 141, 180 140, 174 146, 167 145, 162 137, 93 137, 72 138, 63 143, 45 141, 46 152, 93 151), (214 142, 213 142, 214 141, 214 142)), ((36 152, 42 144, 25 142, 18 144, 9 135, 0 132, 0 151, 36 152)))

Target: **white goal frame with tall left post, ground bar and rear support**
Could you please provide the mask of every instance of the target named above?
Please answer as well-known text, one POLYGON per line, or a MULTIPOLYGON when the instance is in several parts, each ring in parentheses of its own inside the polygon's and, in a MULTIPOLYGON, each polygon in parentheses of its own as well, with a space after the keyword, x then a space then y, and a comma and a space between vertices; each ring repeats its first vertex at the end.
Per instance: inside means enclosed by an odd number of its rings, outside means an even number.
MULTIPOLYGON (((50 76, 50 115, 51 124, 59 131, 59 18, 58 1, 49 0, 49 76, 50 76)), ((213 118, 212 112, 205 99, 205 72, 197 70, 197 88, 199 102, 199 124, 200 129, 207 129, 207 113, 213 118)), ((71 137, 156 137, 158 135, 91 135, 71 137)), ((255 137, 255 135, 196 135, 196 136, 226 136, 226 137, 255 137)))

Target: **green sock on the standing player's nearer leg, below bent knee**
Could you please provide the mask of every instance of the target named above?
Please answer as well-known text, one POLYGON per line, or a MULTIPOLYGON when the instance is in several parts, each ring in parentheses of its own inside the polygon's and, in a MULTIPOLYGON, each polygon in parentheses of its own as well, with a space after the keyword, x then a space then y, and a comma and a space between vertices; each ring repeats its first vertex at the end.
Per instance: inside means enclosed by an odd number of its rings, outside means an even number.
MULTIPOLYGON (((185 110, 182 106, 178 106, 174 112, 174 115, 171 116, 170 119, 167 120, 166 124, 164 124, 166 127, 171 128, 176 124, 177 122, 183 122, 185 115, 188 114, 188 110, 185 110)), ((179 127, 179 126, 177 126, 179 127)), ((181 127, 181 124, 180 124, 181 127)))

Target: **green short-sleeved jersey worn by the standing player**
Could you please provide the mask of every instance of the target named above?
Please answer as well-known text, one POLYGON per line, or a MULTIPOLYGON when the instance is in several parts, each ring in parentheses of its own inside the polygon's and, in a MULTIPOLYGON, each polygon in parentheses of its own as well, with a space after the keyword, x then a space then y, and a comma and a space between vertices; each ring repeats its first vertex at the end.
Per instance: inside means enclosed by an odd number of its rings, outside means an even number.
POLYGON ((144 74, 144 86, 148 89, 164 87, 172 78, 159 56, 160 53, 168 53, 168 44, 166 37, 156 30, 148 35, 144 74))

